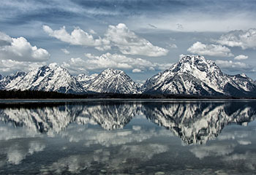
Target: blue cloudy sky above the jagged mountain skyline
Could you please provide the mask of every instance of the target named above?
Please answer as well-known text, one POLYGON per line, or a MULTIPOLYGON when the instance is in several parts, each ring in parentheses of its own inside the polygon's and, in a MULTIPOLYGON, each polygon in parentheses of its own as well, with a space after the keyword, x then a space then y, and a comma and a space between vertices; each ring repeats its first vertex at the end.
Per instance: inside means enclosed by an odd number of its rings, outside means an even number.
POLYGON ((255 16, 254 0, 1 0, 0 74, 56 63, 143 82, 183 54, 256 79, 255 16))

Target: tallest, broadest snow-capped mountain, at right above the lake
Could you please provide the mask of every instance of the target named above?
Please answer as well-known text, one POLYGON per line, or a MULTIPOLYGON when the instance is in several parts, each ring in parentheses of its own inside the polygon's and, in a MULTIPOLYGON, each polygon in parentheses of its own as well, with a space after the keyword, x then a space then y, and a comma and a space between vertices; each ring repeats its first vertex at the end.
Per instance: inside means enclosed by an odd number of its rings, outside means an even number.
POLYGON ((170 69, 147 79, 145 93, 200 96, 256 96, 256 85, 246 75, 222 73, 214 61, 199 55, 182 55, 170 69))

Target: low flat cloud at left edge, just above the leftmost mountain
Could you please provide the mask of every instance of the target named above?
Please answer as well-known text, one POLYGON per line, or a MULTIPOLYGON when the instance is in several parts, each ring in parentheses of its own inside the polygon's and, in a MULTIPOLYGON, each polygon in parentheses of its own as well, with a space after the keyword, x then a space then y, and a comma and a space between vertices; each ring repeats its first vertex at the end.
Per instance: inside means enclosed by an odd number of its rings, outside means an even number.
POLYGON ((28 61, 0 60, 0 71, 5 74, 12 74, 15 71, 31 71, 45 64, 45 62, 35 63, 28 61))

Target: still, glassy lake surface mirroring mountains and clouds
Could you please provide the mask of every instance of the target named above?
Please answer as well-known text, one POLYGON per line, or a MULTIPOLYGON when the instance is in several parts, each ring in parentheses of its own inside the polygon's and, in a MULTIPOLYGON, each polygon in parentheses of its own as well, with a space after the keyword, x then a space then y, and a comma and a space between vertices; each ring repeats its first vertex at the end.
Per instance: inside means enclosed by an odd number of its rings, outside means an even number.
POLYGON ((0 101, 0 174, 256 174, 255 120, 252 100, 0 101))

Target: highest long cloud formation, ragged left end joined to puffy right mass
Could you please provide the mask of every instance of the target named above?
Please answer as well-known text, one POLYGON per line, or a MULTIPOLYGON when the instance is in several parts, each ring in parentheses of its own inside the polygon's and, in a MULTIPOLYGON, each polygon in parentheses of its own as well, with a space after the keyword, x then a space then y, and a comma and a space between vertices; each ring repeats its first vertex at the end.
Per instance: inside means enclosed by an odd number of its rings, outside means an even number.
POLYGON ((118 47, 118 50, 126 55, 146 55, 157 57, 167 55, 168 50, 162 47, 154 46, 146 39, 136 35, 124 23, 119 23, 117 26, 108 26, 105 36, 94 39, 92 34, 95 31, 90 30, 89 33, 76 27, 71 34, 66 31, 65 26, 59 30, 53 30, 49 26, 42 26, 43 30, 56 39, 62 42, 67 42, 72 45, 82 45, 95 47, 97 50, 110 50, 111 47, 118 47))

